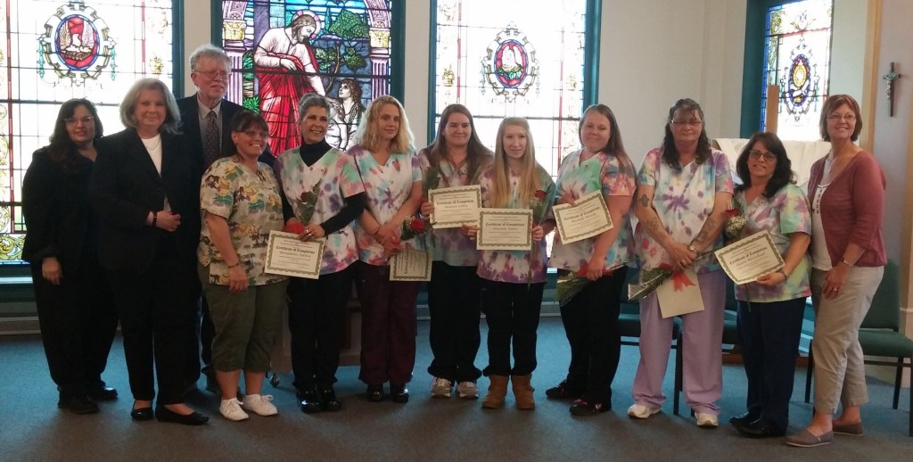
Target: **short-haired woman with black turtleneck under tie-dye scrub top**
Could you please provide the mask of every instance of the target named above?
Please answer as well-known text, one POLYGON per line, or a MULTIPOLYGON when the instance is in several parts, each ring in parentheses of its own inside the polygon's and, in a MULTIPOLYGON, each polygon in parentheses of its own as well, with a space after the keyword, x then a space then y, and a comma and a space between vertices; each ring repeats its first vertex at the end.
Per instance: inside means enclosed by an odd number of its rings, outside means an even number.
POLYGON ((309 93, 298 113, 301 145, 279 154, 273 170, 287 198, 287 230, 325 244, 320 278, 289 282, 291 363, 301 411, 338 411, 342 403, 333 383, 352 297, 351 265, 358 260, 352 221, 364 210, 364 185, 352 157, 326 141, 329 102, 309 93))

